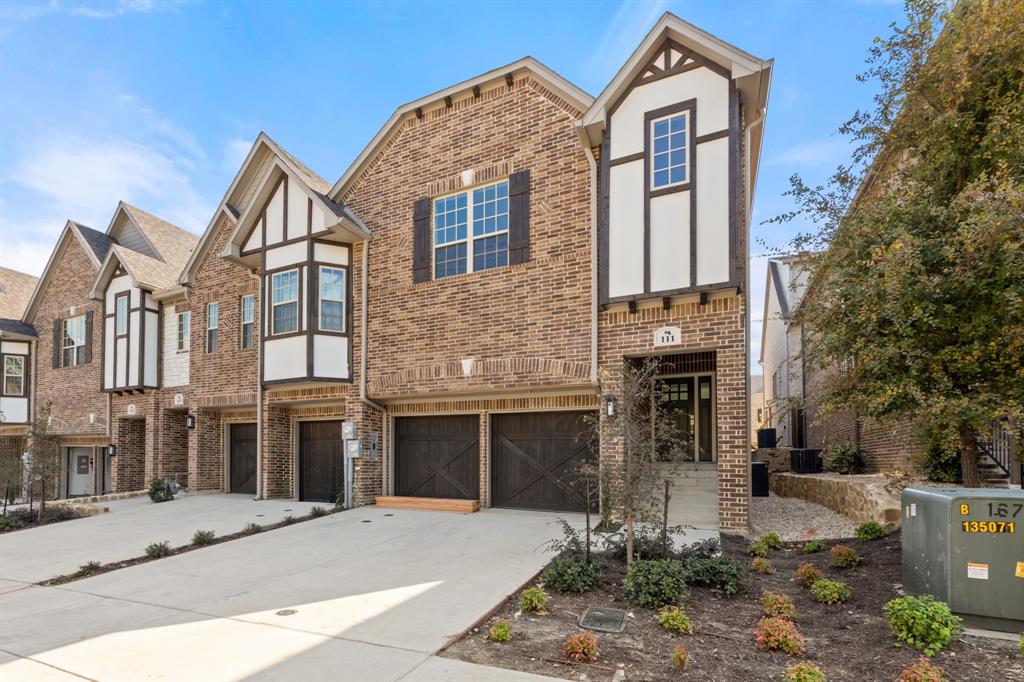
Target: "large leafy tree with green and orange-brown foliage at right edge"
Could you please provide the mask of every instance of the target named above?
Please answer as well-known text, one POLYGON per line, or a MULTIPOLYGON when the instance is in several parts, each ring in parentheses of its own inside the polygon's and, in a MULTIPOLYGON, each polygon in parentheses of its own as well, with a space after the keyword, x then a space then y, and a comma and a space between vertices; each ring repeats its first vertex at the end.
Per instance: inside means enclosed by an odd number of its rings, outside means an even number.
POLYGON ((853 161, 791 178, 791 244, 814 278, 798 318, 827 375, 821 410, 909 419, 958 447, 1024 410, 1024 0, 907 0, 840 132, 853 161))

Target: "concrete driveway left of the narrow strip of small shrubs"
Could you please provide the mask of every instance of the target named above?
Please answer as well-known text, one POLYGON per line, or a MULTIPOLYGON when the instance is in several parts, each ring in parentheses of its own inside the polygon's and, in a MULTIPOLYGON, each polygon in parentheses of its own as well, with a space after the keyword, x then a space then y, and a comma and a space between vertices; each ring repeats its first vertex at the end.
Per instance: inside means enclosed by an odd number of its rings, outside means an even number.
POLYGON ((256 502, 247 495, 185 496, 159 505, 147 497, 104 502, 100 506, 110 511, 103 514, 0 536, 0 578, 38 583, 73 573, 89 561, 142 556, 151 543, 187 545, 197 530, 226 536, 249 523, 267 525, 289 514, 305 516, 316 504, 256 502))

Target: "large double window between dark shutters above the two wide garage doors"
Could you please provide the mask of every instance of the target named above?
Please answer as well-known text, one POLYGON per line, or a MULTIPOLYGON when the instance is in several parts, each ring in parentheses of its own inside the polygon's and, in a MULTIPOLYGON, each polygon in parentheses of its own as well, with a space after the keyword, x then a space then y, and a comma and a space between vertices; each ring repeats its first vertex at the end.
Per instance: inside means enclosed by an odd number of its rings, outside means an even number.
POLYGON ((508 265, 508 230, 507 180, 435 199, 434 278, 508 265))

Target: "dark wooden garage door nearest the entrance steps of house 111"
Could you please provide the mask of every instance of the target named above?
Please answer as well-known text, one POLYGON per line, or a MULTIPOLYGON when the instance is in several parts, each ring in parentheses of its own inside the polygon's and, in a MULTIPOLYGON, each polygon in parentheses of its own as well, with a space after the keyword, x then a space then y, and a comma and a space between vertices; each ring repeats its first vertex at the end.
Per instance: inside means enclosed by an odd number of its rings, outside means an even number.
MULTIPOLYGON (((577 480, 577 471, 581 462, 597 461, 597 446, 590 437, 591 425, 586 415, 581 412, 495 415, 490 441, 492 505, 584 511, 587 498, 577 480)), ((592 503, 596 509, 597 501, 592 503)))

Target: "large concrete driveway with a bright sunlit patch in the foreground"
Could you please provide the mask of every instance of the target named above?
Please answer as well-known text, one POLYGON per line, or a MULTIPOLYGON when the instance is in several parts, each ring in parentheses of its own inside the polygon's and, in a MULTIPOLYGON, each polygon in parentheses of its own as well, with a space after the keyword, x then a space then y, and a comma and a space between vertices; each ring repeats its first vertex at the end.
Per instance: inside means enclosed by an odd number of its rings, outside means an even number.
POLYGON ((57 588, 0 580, 0 679, 541 680, 432 654, 544 565, 555 521, 365 507, 57 588))

